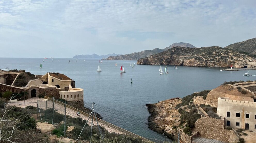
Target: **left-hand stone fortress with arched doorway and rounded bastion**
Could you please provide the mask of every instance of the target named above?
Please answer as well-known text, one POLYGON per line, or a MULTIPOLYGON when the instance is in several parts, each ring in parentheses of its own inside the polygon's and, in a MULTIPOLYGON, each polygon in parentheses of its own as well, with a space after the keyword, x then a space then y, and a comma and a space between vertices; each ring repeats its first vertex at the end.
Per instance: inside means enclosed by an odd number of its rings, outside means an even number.
POLYGON ((84 90, 75 87, 75 81, 61 73, 46 73, 35 75, 34 80, 29 80, 25 87, 16 87, 14 83, 19 72, 0 70, 0 92, 11 91, 20 93, 28 92, 27 98, 46 96, 63 99, 75 108, 84 107, 84 90))

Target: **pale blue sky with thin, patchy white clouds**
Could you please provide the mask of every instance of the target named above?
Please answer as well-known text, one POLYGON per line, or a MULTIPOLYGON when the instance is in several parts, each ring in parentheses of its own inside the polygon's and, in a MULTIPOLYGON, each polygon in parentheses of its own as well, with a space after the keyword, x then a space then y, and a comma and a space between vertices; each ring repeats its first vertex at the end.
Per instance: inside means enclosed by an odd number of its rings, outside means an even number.
POLYGON ((129 54, 256 37, 255 0, 0 0, 0 57, 129 54))

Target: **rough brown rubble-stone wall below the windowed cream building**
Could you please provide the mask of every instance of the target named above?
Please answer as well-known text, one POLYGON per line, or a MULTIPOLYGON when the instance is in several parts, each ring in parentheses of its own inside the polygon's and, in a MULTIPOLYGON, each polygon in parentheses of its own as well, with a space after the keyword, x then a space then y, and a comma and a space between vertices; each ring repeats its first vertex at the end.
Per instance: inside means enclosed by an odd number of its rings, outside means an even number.
POLYGON ((195 123, 195 130, 199 131, 199 135, 204 138, 220 141, 229 141, 237 138, 232 130, 224 129, 224 119, 200 118, 195 123))

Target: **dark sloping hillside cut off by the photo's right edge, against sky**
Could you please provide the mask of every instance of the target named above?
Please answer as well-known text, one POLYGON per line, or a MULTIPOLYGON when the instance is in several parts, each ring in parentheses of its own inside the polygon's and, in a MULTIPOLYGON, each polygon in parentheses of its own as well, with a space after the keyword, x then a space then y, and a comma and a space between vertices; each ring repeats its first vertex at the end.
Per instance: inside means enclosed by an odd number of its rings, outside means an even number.
POLYGON ((242 51, 250 55, 256 55, 256 38, 248 39, 243 42, 230 44, 225 48, 242 51))

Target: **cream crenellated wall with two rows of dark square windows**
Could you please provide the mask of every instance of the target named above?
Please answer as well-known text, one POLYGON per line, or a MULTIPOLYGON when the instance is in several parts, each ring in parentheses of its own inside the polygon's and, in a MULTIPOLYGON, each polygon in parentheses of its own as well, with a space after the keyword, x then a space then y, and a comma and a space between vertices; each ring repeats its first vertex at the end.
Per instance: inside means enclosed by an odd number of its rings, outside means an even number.
POLYGON ((225 118, 225 125, 230 121, 230 126, 234 128, 245 129, 245 123, 249 123, 249 130, 254 130, 256 125, 256 102, 229 100, 227 97, 220 97, 218 100, 217 114, 225 118), (230 112, 230 117, 227 117, 230 112), (236 117, 236 113, 240 113, 240 117, 236 117), (249 118, 245 118, 245 114, 249 114, 249 118), (239 122, 239 127, 236 126, 239 122))

